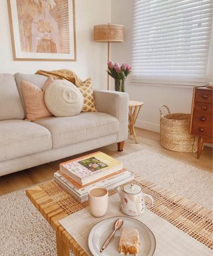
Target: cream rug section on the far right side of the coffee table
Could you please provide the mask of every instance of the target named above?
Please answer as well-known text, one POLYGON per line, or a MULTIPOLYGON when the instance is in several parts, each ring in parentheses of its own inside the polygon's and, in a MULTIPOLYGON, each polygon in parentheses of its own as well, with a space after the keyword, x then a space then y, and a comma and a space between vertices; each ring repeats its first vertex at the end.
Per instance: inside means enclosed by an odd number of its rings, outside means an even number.
POLYGON ((118 159, 128 171, 208 209, 213 208, 213 175, 209 171, 147 149, 118 159))

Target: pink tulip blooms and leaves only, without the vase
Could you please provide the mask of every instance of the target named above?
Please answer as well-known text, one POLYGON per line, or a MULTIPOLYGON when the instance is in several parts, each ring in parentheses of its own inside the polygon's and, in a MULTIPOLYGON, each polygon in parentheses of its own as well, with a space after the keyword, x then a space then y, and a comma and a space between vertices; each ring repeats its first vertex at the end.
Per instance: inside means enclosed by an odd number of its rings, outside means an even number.
POLYGON ((125 79, 127 75, 132 71, 132 67, 127 63, 122 63, 120 66, 118 63, 108 61, 107 73, 114 79, 125 79))

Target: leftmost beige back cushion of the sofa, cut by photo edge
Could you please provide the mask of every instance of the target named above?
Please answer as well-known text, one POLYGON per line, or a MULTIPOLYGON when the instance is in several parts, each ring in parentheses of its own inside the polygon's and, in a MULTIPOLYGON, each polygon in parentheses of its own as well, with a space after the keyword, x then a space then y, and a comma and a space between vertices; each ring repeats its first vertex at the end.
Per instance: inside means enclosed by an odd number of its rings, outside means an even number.
POLYGON ((0 74, 0 120, 24 119, 24 117, 25 112, 14 76, 0 74))

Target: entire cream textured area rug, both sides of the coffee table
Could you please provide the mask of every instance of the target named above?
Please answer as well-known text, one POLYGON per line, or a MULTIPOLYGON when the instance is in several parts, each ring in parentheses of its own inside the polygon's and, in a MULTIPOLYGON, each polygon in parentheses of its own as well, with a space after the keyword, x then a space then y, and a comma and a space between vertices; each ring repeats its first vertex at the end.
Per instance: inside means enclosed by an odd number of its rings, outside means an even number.
MULTIPOLYGON (((181 161, 142 149, 118 158, 129 171, 212 208, 212 175, 181 161)), ((25 195, 0 197, 0 255, 55 256, 55 232, 25 195)))

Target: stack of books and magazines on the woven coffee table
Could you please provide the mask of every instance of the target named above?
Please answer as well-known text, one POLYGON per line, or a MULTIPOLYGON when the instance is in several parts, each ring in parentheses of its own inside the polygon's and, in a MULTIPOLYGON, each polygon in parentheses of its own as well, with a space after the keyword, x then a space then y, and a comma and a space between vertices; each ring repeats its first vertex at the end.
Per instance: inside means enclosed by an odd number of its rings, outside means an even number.
POLYGON ((54 178, 61 187, 83 203, 87 201, 87 193, 92 187, 114 189, 132 181, 134 175, 124 169, 120 161, 99 151, 61 163, 54 178))

